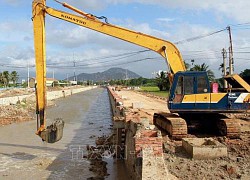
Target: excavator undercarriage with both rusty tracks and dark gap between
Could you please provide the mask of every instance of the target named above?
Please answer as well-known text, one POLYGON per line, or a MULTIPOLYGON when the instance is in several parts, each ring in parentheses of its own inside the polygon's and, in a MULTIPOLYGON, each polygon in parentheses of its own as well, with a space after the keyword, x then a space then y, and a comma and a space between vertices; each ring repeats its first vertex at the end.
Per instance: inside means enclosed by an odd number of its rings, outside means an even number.
POLYGON ((224 114, 172 114, 155 113, 154 124, 167 132, 172 139, 181 139, 188 134, 219 135, 239 138, 240 125, 237 119, 224 114))

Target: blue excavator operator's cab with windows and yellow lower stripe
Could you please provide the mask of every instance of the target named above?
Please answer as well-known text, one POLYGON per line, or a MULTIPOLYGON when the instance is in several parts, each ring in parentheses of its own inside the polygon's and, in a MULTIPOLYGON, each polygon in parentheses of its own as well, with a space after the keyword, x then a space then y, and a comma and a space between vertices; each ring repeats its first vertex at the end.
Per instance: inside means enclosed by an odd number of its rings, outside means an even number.
POLYGON ((209 109, 210 83, 206 72, 178 72, 170 89, 169 109, 196 111, 209 109))

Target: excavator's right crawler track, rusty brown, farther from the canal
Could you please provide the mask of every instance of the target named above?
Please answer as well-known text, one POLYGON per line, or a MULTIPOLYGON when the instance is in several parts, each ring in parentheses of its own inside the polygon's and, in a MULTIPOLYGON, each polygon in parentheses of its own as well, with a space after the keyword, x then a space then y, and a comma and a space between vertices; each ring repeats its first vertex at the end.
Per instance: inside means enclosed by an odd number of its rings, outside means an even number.
POLYGON ((222 136, 227 136, 228 138, 240 137, 240 125, 236 119, 220 119, 217 121, 217 127, 222 136))

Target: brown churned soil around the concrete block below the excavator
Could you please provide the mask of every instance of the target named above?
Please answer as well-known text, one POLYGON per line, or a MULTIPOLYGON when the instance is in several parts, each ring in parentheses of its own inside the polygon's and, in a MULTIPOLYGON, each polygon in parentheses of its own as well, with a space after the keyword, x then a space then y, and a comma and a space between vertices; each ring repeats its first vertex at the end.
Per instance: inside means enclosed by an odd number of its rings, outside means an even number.
MULTIPOLYGON (((250 124, 249 120, 241 124, 250 124), (246 122, 248 121, 248 122, 246 122)), ((165 139, 165 161, 170 173, 179 179, 249 179, 250 177, 250 128, 239 139, 213 137, 227 146, 228 156, 217 159, 191 159, 181 142, 165 139)))

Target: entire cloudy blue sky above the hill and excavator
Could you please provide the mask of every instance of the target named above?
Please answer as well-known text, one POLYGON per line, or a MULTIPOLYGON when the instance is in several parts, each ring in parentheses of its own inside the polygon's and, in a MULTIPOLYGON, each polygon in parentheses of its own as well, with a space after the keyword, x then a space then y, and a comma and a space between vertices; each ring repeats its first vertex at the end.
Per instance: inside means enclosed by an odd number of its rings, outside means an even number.
MULTIPOLYGON (((150 34, 171 42, 207 34, 232 25, 235 71, 239 73, 250 68, 250 2, 238 0, 65 0, 78 9, 105 16, 109 23, 135 31, 150 34)), ((0 72, 17 70, 20 79, 27 78, 29 64, 34 76, 33 29, 31 4, 27 0, 2 0, 0 2, 0 72)), ((53 0, 47 5, 68 11, 53 0)), ((70 11, 69 11, 70 12, 70 11)), ((154 52, 140 53, 126 59, 107 58, 117 54, 143 50, 121 40, 96 33, 62 20, 46 16, 47 36, 47 76, 55 72, 58 79, 73 75, 73 61, 76 73, 101 72, 110 67, 128 68, 141 76, 152 77, 153 72, 166 70, 167 66, 154 52), (125 64, 146 57, 154 60, 125 64), (103 60, 109 63, 98 63, 103 60), (112 63, 110 63, 110 61, 112 63), (116 64, 123 65, 116 65, 116 64), (52 67, 53 65, 53 67, 52 67), (116 65, 116 66, 115 66, 116 65)), ((183 58, 196 64, 203 62, 220 76, 218 70, 222 63, 221 49, 229 47, 227 31, 200 40, 178 44, 183 58), (197 52, 199 51, 199 52, 197 52)))

